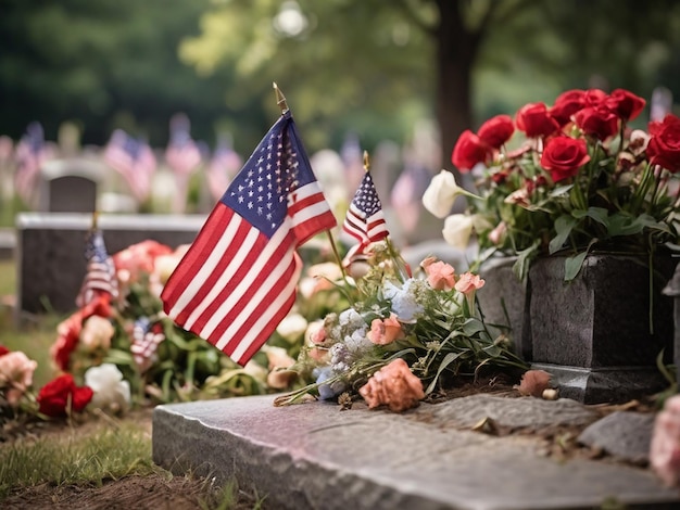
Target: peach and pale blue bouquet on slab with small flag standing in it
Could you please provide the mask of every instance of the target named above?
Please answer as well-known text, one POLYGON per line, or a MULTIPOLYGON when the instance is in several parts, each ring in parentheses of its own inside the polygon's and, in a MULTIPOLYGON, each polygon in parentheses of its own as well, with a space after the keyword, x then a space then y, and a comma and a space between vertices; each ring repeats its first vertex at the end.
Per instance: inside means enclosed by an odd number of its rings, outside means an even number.
MULTIPOLYGON (((476 292, 484 281, 428 257, 413 271, 389 240, 370 174, 354 196, 343 230, 358 240, 342 266, 349 275, 323 279, 344 308, 312 321, 297 364, 306 386, 276 398, 310 397, 403 411, 456 378, 484 370, 521 373, 505 330, 487 324, 476 292)), ((310 301, 315 299, 310 296, 310 301)))

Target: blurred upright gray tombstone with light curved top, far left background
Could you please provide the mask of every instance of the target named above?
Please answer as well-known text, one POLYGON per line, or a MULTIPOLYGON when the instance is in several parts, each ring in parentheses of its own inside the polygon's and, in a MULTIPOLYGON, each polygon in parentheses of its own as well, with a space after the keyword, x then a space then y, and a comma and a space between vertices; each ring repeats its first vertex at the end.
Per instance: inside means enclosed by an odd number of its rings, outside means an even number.
POLYGON ((54 160, 41 168, 39 209, 46 213, 92 213, 106 167, 87 158, 54 160))

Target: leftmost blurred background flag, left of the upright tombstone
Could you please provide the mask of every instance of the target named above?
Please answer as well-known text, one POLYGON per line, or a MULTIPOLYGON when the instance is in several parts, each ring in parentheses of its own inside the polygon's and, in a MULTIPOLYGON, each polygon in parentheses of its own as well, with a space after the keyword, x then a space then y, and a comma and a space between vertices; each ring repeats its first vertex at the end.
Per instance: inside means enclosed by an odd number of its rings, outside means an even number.
POLYGON ((30 123, 26 133, 16 145, 16 173, 14 189, 27 204, 32 204, 36 194, 36 181, 40 167, 50 157, 45 143, 45 132, 40 123, 30 123))

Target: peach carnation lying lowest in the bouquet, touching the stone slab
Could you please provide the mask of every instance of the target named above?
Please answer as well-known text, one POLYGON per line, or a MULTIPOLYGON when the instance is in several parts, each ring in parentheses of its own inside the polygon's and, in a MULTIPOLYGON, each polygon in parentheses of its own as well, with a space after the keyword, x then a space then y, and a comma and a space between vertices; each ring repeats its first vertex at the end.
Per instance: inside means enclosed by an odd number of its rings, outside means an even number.
POLYGON ((374 373, 358 393, 369 409, 386 405, 393 412, 416 407, 425 398, 423 383, 401 358, 374 373))

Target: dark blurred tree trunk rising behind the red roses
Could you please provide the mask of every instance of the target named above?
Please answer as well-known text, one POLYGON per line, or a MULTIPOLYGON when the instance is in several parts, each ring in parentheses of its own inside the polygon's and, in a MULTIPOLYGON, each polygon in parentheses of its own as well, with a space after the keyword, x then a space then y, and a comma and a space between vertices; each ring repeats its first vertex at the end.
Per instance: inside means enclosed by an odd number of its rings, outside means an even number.
POLYGON ((451 153, 461 132, 473 129, 471 73, 479 48, 478 34, 464 23, 461 2, 437 0, 440 24, 437 39, 437 117, 441 132, 442 166, 454 173, 463 186, 461 174, 451 163, 451 153))

